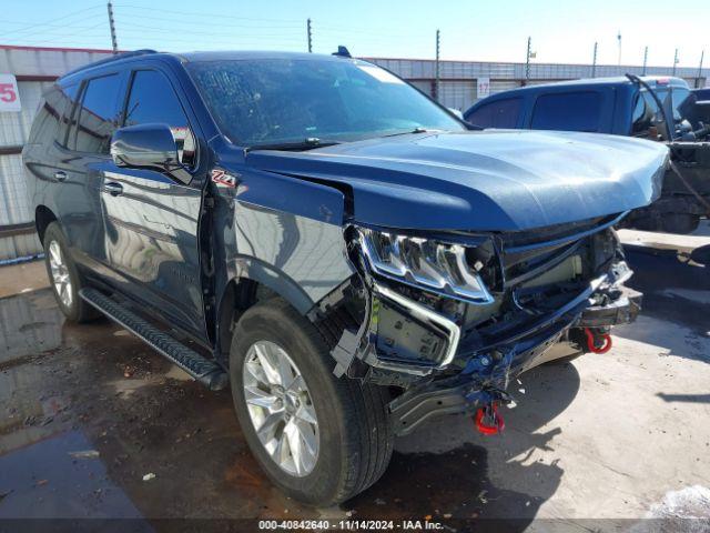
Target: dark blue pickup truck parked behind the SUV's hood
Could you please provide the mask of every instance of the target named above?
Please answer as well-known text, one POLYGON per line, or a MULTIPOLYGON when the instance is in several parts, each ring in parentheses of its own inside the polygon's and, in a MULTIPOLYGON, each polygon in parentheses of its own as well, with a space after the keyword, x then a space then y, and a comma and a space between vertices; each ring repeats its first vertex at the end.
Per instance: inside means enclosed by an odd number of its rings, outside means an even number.
POLYGON ((690 233, 710 215, 710 102, 699 100, 679 78, 596 78, 500 92, 464 118, 481 128, 612 133, 666 143, 673 164, 661 198, 622 225, 690 233))

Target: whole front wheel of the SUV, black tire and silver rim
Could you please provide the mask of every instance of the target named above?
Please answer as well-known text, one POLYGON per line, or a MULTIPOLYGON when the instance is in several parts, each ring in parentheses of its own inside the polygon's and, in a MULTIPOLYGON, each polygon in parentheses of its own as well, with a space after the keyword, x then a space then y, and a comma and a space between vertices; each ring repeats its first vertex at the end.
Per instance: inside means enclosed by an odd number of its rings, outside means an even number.
POLYGON ((337 379, 333 366, 315 328, 281 299, 236 324, 230 379, 246 442, 276 485, 311 505, 364 491, 392 457, 387 390, 337 379))

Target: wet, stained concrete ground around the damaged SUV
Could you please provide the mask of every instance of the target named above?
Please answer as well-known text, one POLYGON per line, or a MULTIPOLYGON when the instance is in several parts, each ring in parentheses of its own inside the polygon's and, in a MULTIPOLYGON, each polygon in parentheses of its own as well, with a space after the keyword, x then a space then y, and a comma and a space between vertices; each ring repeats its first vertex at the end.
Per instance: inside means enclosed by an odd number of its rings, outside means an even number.
MULTIPOLYGON (((108 321, 65 324, 41 263, 2 268, 0 519, 135 519, 102 523, 115 531, 173 531, 186 523, 161 519, 183 517, 430 515, 458 531, 480 519, 516 531, 710 519, 710 275, 673 250, 631 248, 629 260, 645 309, 615 331, 611 352, 525 374, 500 436, 446 418, 400 439, 382 481, 325 510, 261 474, 229 391, 207 392, 108 321)), ((256 530, 210 522, 240 524, 256 530)))

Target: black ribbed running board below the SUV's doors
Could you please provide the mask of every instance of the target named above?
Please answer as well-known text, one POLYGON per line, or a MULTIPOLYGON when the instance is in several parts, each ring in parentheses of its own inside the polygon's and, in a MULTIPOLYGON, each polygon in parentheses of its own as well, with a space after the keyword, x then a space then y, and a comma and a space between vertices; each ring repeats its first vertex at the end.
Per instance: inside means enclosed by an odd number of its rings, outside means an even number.
POLYGON ((217 363, 178 342, 109 296, 95 289, 82 289, 79 295, 210 390, 219 391, 227 385, 227 374, 217 363))

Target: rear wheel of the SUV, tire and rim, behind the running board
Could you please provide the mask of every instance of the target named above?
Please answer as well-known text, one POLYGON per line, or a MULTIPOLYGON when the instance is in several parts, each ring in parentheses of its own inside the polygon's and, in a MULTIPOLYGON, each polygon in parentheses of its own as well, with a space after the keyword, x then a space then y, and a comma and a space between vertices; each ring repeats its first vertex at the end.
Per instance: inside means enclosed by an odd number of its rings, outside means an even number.
POLYGON ((90 322, 101 313, 79 296, 84 282, 77 265, 69 255, 64 232, 58 222, 52 222, 44 231, 44 265, 52 292, 61 312, 70 322, 90 322))

